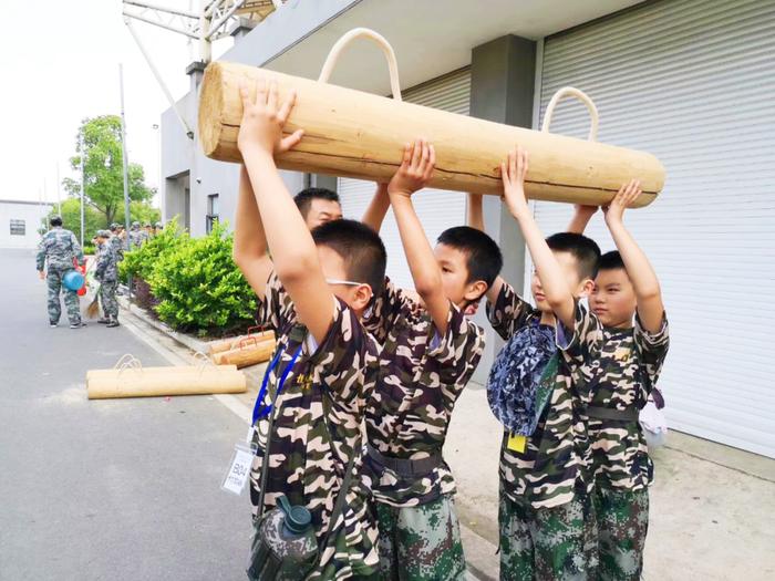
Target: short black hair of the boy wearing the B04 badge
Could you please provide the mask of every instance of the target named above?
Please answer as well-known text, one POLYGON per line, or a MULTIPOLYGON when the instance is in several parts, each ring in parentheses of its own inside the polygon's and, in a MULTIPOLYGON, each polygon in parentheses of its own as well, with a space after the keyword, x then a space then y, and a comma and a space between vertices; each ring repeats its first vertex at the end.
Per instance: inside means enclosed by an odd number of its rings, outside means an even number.
POLYGON ((344 260, 348 279, 365 282, 374 295, 385 284, 388 252, 380 235, 358 220, 332 220, 312 230, 317 246, 327 246, 344 260))

